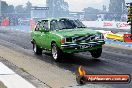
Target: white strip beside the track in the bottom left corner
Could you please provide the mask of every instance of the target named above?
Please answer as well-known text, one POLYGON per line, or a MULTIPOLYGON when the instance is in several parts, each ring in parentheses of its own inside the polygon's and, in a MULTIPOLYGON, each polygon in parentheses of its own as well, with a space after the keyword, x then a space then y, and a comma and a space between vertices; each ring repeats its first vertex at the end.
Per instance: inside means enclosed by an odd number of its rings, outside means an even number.
POLYGON ((7 88, 36 88, 0 62, 0 81, 7 88))

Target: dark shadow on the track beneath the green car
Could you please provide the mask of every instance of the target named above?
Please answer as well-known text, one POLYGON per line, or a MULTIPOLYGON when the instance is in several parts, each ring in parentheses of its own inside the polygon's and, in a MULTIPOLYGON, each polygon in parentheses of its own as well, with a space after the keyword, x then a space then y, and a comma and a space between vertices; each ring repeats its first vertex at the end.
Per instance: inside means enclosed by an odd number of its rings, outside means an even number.
POLYGON ((53 66, 57 66, 66 70, 70 70, 75 73, 77 68, 81 65, 85 68, 97 68, 102 66, 103 62, 99 59, 92 58, 91 55, 87 54, 65 54, 62 62, 55 62, 51 56, 51 53, 44 52, 42 56, 36 56, 38 59, 52 64, 53 66))

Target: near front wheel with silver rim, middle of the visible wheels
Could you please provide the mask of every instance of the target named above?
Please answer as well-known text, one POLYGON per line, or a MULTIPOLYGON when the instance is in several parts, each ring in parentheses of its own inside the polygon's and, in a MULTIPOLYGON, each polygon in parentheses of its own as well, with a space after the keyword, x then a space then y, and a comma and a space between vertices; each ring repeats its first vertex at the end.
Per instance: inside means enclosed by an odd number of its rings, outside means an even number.
POLYGON ((62 61, 63 52, 59 49, 56 43, 52 43, 51 45, 51 53, 52 57, 56 62, 62 61))

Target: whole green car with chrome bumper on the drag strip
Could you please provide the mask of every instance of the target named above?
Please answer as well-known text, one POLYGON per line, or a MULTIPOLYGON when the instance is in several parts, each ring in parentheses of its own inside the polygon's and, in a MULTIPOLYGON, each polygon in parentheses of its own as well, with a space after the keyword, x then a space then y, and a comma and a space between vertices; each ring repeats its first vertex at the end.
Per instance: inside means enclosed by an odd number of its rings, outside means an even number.
POLYGON ((86 51, 99 58, 105 44, 102 33, 85 27, 79 20, 66 18, 39 21, 31 36, 34 53, 40 55, 42 50, 49 50, 55 61, 61 61, 64 53, 86 51))

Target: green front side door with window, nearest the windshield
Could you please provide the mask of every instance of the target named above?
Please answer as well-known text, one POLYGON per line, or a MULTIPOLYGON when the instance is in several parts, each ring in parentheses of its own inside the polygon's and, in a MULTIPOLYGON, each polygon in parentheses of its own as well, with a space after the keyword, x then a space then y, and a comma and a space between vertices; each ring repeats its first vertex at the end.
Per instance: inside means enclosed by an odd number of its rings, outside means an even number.
POLYGON ((44 32, 41 33, 41 45, 44 49, 49 49, 50 40, 49 40, 49 21, 43 20, 41 22, 41 28, 44 32))

